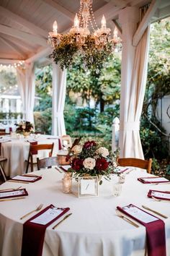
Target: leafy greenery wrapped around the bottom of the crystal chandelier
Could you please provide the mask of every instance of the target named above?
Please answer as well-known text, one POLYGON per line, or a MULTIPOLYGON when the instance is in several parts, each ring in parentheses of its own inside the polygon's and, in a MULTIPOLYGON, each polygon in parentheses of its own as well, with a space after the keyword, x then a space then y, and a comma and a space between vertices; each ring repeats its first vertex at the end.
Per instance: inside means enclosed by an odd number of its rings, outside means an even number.
POLYGON ((107 58, 112 56, 112 43, 107 42, 104 47, 96 46, 94 37, 88 35, 85 43, 79 46, 73 35, 62 35, 60 43, 55 46, 50 58, 58 64, 61 69, 71 68, 79 61, 83 63, 85 69, 101 69, 107 58))

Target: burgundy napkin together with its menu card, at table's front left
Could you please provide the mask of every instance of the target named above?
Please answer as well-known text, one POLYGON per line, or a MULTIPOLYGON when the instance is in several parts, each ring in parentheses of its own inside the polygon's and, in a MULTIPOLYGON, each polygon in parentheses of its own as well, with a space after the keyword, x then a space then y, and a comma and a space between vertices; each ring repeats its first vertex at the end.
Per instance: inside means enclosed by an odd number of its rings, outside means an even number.
POLYGON ((22 256, 41 256, 45 230, 68 210, 70 208, 55 208, 54 205, 49 205, 26 221, 23 225, 22 256))

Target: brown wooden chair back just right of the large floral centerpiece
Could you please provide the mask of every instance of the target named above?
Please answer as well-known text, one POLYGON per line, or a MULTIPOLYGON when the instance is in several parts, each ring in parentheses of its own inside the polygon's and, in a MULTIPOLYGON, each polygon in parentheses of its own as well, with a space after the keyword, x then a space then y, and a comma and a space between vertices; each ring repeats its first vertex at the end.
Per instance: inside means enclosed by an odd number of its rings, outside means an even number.
POLYGON ((118 158, 117 162, 120 166, 133 166, 146 169, 148 174, 151 174, 152 158, 143 160, 139 158, 118 158))

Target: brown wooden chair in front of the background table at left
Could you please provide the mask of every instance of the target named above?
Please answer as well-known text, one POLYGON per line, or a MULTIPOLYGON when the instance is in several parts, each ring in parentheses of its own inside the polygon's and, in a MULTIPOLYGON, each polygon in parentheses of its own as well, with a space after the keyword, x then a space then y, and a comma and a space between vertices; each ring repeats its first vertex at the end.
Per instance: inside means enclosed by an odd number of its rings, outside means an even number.
MULTIPOLYGON (((33 165, 35 164, 33 162, 33 155, 37 155, 39 150, 50 150, 49 156, 52 156, 53 154, 53 144, 39 144, 39 145, 32 145, 30 144, 30 152, 28 155, 28 160, 27 160, 27 168, 26 168, 26 174, 29 168, 29 165, 31 166, 31 171, 33 171, 33 165)), ((36 162, 37 164, 37 162, 36 162)))

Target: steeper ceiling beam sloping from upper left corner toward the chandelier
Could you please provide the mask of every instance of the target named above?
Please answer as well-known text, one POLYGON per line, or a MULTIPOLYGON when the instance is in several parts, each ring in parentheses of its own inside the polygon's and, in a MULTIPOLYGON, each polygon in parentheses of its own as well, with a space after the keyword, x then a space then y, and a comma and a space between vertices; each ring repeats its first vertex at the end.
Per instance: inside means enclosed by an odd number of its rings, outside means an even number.
POLYGON ((4 7, 0 7, 0 12, 2 16, 7 17, 14 22, 17 22, 19 25, 27 27, 29 30, 32 31, 32 33, 35 33, 36 35, 42 35, 44 38, 48 38, 48 31, 42 30, 42 28, 37 27, 32 22, 23 19, 17 14, 14 14, 14 12, 11 12, 4 7))

